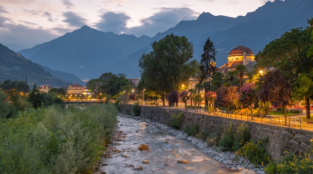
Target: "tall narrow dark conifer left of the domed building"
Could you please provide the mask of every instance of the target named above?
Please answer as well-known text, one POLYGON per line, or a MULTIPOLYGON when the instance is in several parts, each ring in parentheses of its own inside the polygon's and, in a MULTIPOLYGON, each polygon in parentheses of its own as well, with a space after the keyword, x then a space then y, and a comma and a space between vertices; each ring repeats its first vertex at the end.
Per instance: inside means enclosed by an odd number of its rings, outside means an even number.
MULTIPOLYGON (((217 68, 215 66, 215 55, 216 55, 215 48, 213 45, 213 42, 210 41, 210 38, 208 37, 207 41, 205 41, 205 44, 203 46, 203 54, 201 55, 201 75, 200 75, 200 83, 202 83, 203 80, 207 80, 210 78, 210 85, 213 75, 216 73, 217 68)), ((204 85, 204 93, 206 94, 208 92, 208 84, 204 85)), ((205 106, 208 106, 208 100, 205 99, 205 106)))

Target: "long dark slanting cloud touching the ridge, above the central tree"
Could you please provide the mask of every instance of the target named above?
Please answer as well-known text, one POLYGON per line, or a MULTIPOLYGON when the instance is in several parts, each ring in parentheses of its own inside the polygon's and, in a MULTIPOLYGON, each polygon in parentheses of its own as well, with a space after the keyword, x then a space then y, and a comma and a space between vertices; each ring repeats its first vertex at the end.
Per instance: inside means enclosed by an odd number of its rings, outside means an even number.
POLYGON ((141 26, 129 28, 128 33, 137 37, 141 35, 153 37, 158 32, 164 32, 175 27, 182 20, 195 20, 198 15, 190 8, 160 8, 158 13, 142 19, 141 26))

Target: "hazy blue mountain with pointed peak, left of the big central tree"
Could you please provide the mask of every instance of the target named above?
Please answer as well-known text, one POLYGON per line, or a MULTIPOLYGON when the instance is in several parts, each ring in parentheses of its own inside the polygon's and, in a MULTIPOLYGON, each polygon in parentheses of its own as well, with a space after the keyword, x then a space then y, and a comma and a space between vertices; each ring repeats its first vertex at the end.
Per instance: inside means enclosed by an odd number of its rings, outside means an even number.
POLYGON ((98 78, 110 66, 144 47, 150 37, 115 35, 83 26, 52 41, 18 51, 29 60, 57 71, 98 78))

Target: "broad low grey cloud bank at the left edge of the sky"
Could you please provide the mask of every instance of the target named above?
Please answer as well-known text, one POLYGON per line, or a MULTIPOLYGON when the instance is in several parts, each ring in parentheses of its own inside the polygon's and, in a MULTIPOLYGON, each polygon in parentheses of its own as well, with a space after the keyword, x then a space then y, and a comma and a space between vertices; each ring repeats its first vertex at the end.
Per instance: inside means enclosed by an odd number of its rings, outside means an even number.
POLYGON ((17 52, 57 38, 51 30, 32 29, 23 25, 3 24, 0 42, 17 52))

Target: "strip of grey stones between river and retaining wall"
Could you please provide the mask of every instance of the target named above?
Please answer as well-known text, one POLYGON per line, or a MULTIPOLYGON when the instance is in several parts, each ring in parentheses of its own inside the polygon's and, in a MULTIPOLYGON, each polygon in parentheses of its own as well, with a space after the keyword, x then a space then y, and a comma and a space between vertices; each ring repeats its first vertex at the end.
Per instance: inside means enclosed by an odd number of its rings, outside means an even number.
POLYGON ((135 120, 143 120, 144 122, 150 122, 160 127, 162 130, 167 131, 174 135, 176 138, 186 139, 192 144, 196 145, 202 152, 207 154, 207 156, 223 162, 228 168, 231 168, 235 171, 235 174, 265 174, 263 166, 254 166, 249 160, 246 160, 244 157, 238 157, 233 152, 222 152, 218 147, 207 147, 207 143, 194 138, 192 136, 188 136, 186 133, 173 129, 169 126, 166 126, 162 123, 158 123, 156 121, 137 117, 130 115, 120 115, 127 118, 133 118, 135 120))

